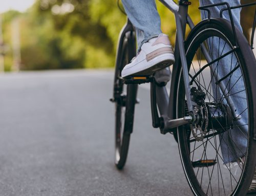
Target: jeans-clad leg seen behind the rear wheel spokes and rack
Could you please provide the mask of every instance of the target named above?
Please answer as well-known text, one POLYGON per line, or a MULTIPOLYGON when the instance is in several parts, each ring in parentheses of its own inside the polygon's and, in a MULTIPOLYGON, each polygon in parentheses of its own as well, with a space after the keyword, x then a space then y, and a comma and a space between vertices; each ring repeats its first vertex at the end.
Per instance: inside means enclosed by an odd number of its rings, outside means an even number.
MULTIPOLYGON (((200 0, 200 5, 209 5, 209 4, 216 4, 221 3, 222 0, 200 0)), ((225 1, 229 3, 230 6, 240 5, 240 0, 229 0, 225 1)), ((224 8, 225 6, 218 6, 218 7, 212 7, 210 8, 211 11, 211 17, 220 17, 220 10, 224 8)), ((238 27, 241 31, 241 25, 240 25, 240 9, 233 9, 232 10, 232 16, 234 20, 234 25, 238 27)), ((204 11, 201 12, 202 19, 207 18, 207 13, 204 11)), ((227 11, 223 12, 223 17, 226 19, 229 19, 229 15, 227 11)), ((225 45, 224 41, 216 39, 212 41, 212 57, 217 58, 218 56, 231 49, 225 45), (219 47, 220 46, 220 47, 219 47), (218 48, 221 49, 221 52, 218 50, 218 48), (224 49, 224 50, 223 50, 224 49)), ((230 70, 232 70, 234 67, 236 67, 236 58, 234 58, 231 54, 226 56, 225 59, 220 60, 219 66, 218 66, 218 75, 220 78, 227 75, 230 70), (222 66, 223 64, 223 66, 222 66), (225 66, 226 65, 226 66, 225 66), (231 68, 230 68, 231 66, 231 68)), ((216 68, 216 64, 213 65, 214 68, 216 68)), ((240 92, 241 90, 245 89, 243 78, 240 78, 238 81, 237 79, 241 76, 241 71, 238 69, 237 71, 233 72, 232 78, 229 82, 229 78, 226 78, 223 82, 225 83, 225 86, 230 86, 230 95, 240 92), (237 82, 236 84, 234 84, 237 82), (234 86, 233 86, 234 84, 234 86), (233 87, 232 87, 233 86, 233 87)), ((215 85, 212 85, 213 94, 216 97, 216 99, 221 98, 223 96, 220 89, 217 89, 215 85)), ((237 93, 235 95, 232 95, 229 97, 229 99, 232 99, 234 105, 236 106, 236 113, 239 115, 241 114, 241 119, 237 122, 234 122, 234 125, 238 124, 247 124, 248 123, 248 111, 247 108, 247 101, 246 101, 246 94, 245 91, 241 93, 237 93)), ((223 103, 226 104, 226 100, 223 100, 223 103)), ((240 127, 234 127, 230 131, 224 133, 223 135, 220 135, 221 140, 221 151, 223 155, 224 163, 229 162, 236 162, 239 158, 243 157, 246 153, 246 147, 247 147, 247 139, 245 138, 245 135, 247 135, 248 126, 246 125, 246 128, 244 130, 241 130, 240 127), (235 144, 234 144, 235 143, 235 144)), ((228 165, 228 164, 227 164, 228 165)))

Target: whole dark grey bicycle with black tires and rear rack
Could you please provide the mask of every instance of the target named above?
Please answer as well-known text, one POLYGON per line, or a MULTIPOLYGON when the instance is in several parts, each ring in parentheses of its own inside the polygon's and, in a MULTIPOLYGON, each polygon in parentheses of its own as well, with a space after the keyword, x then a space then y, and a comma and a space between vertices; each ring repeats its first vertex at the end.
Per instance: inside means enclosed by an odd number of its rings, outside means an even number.
POLYGON ((188 0, 178 4, 170 0, 159 1, 175 14, 177 27, 170 94, 168 96, 166 83, 157 83, 154 75, 121 78, 122 68, 136 55, 135 30, 127 19, 119 34, 111 99, 116 107, 116 167, 122 169, 127 158, 135 104, 138 103, 138 84, 150 82, 153 127, 160 128, 161 134, 174 134, 191 191, 195 195, 245 195, 256 164, 256 77, 253 74, 256 61, 251 50, 255 16, 250 47, 234 26, 231 9, 256 3, 234 7, 227 3, 201 6, 199 9, 205 10, 208 17, 195 26, 187 14, 188 0), (209 8, 223 5, 226 8, 220 11, 220 18, 211 18, 209 8), (230 21, 222 18, 223 11, 228 11, 230 21), (186 24, 191 31, 184 41, 186 24), (216 41, 219 41, 217 56, 212 51, 216 41), (221 41, 225 42, 222 49, 221 41), (228 63, 230 58, 230 71, 221 76, 219 66, 228 63), (235 77, 234 73, 241 73, 241 76, 235 77), (207 74, 208 80, 204 77, 207 74), (244 89, 233 92, 239 80, 244 89), (234 97, 240 94, 247 104, 238 112, 234 97), (246 140, 245 149, 240 149, 233 141, 234 130, 246 140), (235 161, 224 161, 222 145, 235 161))

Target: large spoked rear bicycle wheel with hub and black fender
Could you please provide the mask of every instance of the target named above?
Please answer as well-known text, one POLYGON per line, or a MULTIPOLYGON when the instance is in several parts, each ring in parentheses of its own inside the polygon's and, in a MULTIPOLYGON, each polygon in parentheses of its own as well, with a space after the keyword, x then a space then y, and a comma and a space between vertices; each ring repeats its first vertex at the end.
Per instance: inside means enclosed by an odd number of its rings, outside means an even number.
MULTIPOLYGON (((256 62, 243 34, 236 32, 238 48, 224 19, 202 21, 187 38, 191 94, 200 120, 177 132, 183 169, 195 195, 245 195, 255 169, 256 62), (202 46, 213 63, 205 60, 202 46), (203 99, 197 97, 201 92, 203 99)), ((180 118, 188 111, 182 70, 178 73, 180 118)))

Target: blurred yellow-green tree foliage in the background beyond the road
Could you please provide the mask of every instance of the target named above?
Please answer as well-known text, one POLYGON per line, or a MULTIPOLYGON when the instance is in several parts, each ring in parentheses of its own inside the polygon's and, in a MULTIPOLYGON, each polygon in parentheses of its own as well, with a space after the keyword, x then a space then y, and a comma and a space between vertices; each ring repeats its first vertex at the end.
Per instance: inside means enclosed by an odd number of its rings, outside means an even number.
MULTIPOLYGON (((189 6, 196 24, 200 21, 198 6, 198 1, 189 6)), ((174 44, 174 15, 158 1, 157 7, 162 30, 174 44)), ((3 14, 7 71, 13 64, 15 20, 20 30, 21 70, 106 68, 114 67, 118 34, 126 16, 115 0, 36 0, 25 13, 8 11, 3 14)))

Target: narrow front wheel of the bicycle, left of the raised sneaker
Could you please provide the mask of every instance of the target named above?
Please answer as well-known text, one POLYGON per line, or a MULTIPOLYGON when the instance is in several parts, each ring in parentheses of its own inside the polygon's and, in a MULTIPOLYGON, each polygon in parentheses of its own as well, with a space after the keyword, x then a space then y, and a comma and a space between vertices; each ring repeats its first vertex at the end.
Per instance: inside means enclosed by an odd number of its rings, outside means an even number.
MULTIPOLYGON (((130 137, 133 132, 134 110, 137 95, 137 84, 123 83, 121 71, 136 55, 133 31, 126 32, 120 53, 121 64, 116 64, 114 78, 115 101, 115 165, 122 169, 129 151, 130 137), (126 91, 126 93, 125 93, 126 91)), ((118 59, 118 58, 117 58, 118 59)))

